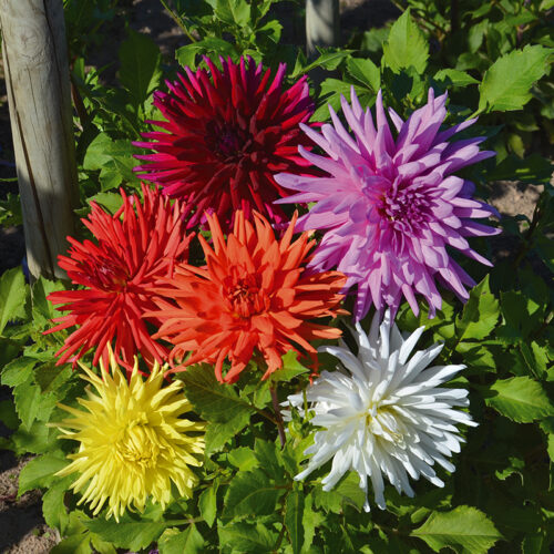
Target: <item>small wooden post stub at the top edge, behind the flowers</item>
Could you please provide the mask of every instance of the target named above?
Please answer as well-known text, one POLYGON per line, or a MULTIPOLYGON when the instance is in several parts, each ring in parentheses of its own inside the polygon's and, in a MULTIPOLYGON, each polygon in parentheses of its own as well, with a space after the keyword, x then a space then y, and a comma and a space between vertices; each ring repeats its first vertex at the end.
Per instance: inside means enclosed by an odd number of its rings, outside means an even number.
POLYGON ((339 43, 339 0, 306 0, 306 54, 317 55, 316 47, 339 43))

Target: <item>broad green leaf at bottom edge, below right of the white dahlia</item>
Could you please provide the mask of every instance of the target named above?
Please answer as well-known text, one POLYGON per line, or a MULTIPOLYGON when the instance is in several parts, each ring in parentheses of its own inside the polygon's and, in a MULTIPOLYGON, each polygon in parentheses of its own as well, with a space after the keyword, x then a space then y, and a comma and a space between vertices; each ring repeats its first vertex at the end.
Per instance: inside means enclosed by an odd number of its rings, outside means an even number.
POLYGON ((425 541, 434 552, 450 546, 458 554, 486 554, 502 538, 492 521, 471 506, 433 512, 411 535, 425 541))

